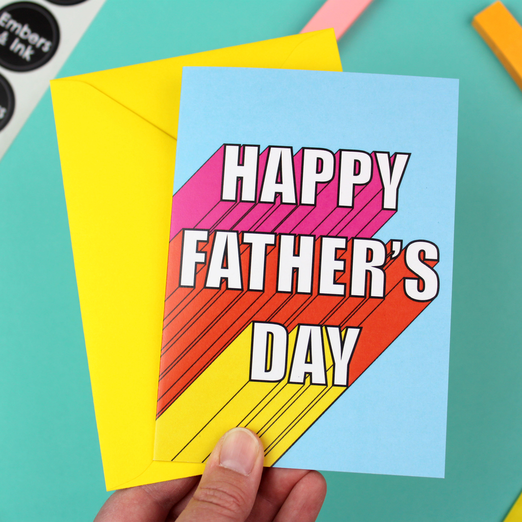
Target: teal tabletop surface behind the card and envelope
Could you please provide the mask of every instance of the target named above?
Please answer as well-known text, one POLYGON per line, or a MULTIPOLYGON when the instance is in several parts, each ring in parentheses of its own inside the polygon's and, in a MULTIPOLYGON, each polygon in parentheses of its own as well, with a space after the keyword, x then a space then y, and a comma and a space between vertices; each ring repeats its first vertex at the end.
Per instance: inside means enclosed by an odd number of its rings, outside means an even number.
MULTIPOLYGON (((321 3, 108 0, 60 76, 296 33, 321 3)), ((496 521, 522 490, 522 92, 470 25, 488 4, 374 0, 339 42, 346 71, 460 79, 453 311, 446 478, 327 472, 320 520, 496 521)), ((0 520, 91 520, 108 493, 49 92, 0 163, 0 349, 0 520)))

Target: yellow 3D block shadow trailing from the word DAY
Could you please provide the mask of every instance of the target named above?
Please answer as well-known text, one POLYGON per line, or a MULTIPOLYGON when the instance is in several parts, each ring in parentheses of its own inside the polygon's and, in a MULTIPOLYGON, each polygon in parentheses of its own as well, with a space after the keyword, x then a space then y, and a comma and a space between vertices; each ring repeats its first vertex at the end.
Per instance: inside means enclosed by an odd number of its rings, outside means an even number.
POLYGON ((256 432, 272 466, 347 389, 333 386, 333 360, 323 328, 326 385, 290 384, 288 337, 286 376, 280 382, 249 381, 252 325, 176 399, 156 421, 156 460, 205 462, 219 438, 234 426, 256 432))

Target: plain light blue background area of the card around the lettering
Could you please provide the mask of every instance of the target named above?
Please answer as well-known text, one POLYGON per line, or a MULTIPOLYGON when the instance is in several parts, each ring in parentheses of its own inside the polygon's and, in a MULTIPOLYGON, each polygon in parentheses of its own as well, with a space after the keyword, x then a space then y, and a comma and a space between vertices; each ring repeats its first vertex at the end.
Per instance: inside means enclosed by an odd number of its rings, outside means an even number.
POLYGON ((174 192, 223 143, 411 152, 374 236, 440 249, 440 293, 278 466, 444 477, 458 80, 185 67, 174 192))

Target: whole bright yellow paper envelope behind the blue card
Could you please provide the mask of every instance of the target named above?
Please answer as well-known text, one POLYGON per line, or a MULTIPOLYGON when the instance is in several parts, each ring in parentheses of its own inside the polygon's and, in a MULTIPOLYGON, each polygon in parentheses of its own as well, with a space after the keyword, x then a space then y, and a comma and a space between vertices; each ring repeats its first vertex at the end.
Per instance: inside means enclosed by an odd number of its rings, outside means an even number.
POLYGON ((188 477, 153 461, 183 66, 340 71, 333 29, 53 80, 51 91, 108 490, 188 477))

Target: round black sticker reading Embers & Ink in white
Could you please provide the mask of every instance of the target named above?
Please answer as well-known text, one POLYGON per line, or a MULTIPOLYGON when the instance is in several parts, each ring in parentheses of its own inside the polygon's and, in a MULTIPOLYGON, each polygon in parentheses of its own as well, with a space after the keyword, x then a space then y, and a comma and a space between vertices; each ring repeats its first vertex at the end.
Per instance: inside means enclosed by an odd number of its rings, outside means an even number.
POLYGON ((0 9, 0 65, 26 71, 53 57, 60 42, 54 16, 32 2, 17 2, 0 9))

